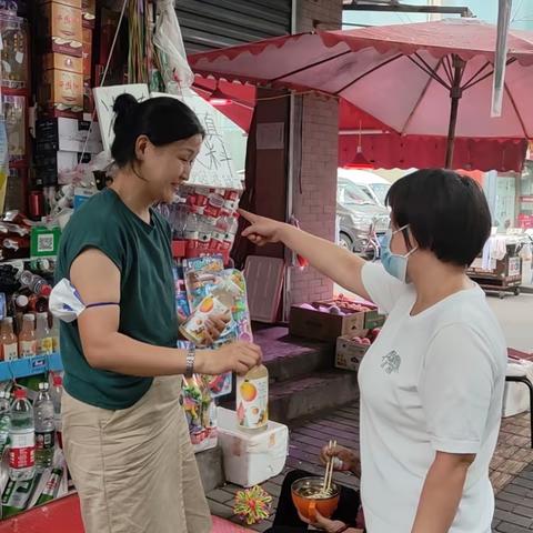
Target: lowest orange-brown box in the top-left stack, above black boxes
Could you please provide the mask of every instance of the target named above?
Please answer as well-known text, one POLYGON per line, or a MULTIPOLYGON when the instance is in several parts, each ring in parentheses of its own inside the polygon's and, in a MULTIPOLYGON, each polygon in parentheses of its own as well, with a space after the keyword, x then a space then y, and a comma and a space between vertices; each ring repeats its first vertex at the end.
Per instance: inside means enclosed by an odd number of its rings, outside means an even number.
POLYGON ((47 70, 38 88, 39 103, 59 109, 83 111, 83 74, 47 70))

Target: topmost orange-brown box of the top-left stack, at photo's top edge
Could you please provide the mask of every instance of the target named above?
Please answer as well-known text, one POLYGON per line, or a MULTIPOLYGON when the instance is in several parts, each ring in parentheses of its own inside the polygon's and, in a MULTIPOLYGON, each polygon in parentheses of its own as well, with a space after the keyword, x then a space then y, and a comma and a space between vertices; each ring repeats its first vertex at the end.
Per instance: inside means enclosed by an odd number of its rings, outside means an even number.
POLYGON ((40 6, 39 43, 44 52, 81 58, 81 9, 58 2, 40 6))

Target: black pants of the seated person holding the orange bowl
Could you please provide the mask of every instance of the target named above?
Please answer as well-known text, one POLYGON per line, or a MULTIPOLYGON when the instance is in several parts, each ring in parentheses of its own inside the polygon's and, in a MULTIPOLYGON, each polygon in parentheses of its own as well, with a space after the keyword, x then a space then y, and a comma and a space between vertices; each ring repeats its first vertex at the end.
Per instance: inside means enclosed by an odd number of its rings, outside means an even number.
MULTIPOLYGON (((294 481, 301 477, 309 477, 309 472, 302 470, 294 470, 289 472, 283 480, 281 489, 280 502, 275 512, 275 519, 272 527, 265 533, 300 533, 308 531, 308 524, 302 522, 298 516, 298 511, 292 503, 291 485, 294 481)), ((332 516, 332 520, 340 520, 345 524, 355 526, 355 519, 358 516, 361 499, 359 492, 353 489, 341 486, 341 497, 339 500, 339 507, 332 516)))

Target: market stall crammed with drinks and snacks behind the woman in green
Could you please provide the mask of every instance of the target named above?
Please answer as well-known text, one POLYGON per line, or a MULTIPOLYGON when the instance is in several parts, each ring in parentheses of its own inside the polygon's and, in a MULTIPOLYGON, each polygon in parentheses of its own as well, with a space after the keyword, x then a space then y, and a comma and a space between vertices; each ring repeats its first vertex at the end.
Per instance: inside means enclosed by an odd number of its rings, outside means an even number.
MULTIPOLYGON (((111 110, 118 94, 128 92, 139 101, 172 95, 200 118, 205 139, 190 184, 173 203, 157 208, 172 225, 177 311, 188 342, 200 342, 198 325, 211 312, 208 301, 225 302, 231 311, 218 345, 252 339, 245 280, 230 268, 242 181, 219 111, 189 89, 193 77, 173 2, 51 0, 24 6, 12 2, 11 10, 0 10, 2 519, 76 491, 62 453, 59 322, 50 313, 49 296, 62 229, 88 198, 112 182, 111 110), (224 286, 232 288, 225 300, 224 286)), ((258 379, 268 382, 268 376, 258 379)), ((194 375, 184 383, 197 452, 218 444, 217 399, 231 391, 231 374, 194 375)), ((263 405, 252 420, 247 411, 252 400, 241 395, 238 425, 253 430, 266 424, 268 412, 263 405)), ((230 416, 234 429, 235 412, 230 416)), ((278 442, 286 447, 284 439, 278 442)), ((39 523, 40 513, 27 515, 24 524, 39 523)))

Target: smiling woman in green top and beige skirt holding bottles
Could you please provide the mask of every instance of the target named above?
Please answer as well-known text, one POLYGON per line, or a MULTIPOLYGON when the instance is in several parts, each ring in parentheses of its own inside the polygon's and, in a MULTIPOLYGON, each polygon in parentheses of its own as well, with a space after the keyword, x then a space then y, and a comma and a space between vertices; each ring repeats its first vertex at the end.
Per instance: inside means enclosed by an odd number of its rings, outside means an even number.
MULTIPOLYGON (((122 94, 114 111, 119 170, 74 213, 58 258, 57 279, 88 305, 61 326, 64 452, 87 533, 208 533, 179 376, 244 373, 261 351, 175 348, 171 231, 151 207, 188 180, 203 128, 173 98, 122 94)), ((224 325, 214 320, 212 336, 224 325)))

